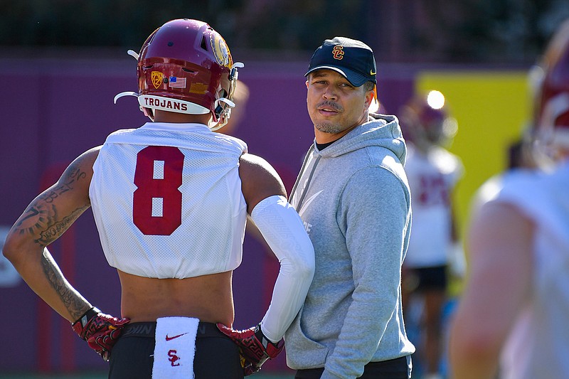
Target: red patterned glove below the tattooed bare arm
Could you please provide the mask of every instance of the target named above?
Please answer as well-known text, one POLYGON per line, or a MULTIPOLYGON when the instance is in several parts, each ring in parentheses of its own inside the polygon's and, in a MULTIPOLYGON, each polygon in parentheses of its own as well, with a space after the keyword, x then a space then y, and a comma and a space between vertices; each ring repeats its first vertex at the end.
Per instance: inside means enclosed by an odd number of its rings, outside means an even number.
POLYGON ((130 319, 117 319, 109 314, 101 313, 95 307, 89 309, 71 326, 95 350, 104 361, 109 361, 112 346, 122 333, 122 328, 130 319))

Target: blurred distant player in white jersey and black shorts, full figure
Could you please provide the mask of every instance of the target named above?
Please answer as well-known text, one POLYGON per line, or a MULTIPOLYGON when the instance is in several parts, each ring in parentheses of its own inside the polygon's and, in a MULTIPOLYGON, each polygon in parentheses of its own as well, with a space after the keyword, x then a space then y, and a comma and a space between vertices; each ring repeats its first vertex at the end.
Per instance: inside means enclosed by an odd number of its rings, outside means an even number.
MULTIPOLYGON (((462 257, 454 220, 452 194, 464 167, 458 156, 446 149, 457 132, 457 122, 448 114, 439 91, 417 95, 401 112, 401 128, 408 146, 405 173, 411 188, 413 226, 403 263, 403 310, 422 301, 418 320, 418 363, 423 378, 442 378, 442 309, 447 301, 450 269, 462 257)), ((459 263, 460 261, 458 261, 459 263)), ((416 317, 415 317, 416 318, 416 317)))

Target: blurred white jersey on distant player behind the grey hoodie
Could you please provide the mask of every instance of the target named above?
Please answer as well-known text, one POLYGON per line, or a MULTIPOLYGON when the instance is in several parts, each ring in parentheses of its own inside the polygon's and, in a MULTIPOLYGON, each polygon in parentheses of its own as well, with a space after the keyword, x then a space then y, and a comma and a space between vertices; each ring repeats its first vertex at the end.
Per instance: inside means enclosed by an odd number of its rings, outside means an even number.
POLYGON ((462 161, 441 147, 423 154, 408 144, 405 173, 411 189, 413 223, 405 265, 446 265, 450 257, 451 194, 464 167, 462 161))

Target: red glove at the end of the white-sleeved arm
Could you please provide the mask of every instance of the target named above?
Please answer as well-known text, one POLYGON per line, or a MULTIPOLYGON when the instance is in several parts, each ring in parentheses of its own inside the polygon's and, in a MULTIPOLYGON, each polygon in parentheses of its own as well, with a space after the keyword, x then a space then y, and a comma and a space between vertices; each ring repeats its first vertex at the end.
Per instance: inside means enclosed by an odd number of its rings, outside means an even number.
POLYGON ((261 331, 261 324, 244 331, 236 331, 221 323, 217 326, 221 333, 239 346, 241 366, 245 376, 256 373, 267 359, 275 358, 285 347, 282 340, 276 344, 269 341, 261 331))

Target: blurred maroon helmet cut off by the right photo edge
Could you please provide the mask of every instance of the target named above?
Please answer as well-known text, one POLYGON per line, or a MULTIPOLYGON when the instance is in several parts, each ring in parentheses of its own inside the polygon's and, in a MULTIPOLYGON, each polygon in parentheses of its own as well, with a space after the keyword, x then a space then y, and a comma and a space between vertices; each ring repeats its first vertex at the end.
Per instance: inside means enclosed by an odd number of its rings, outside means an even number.
POLYGON ((551 38, 537 70, 533 137, 541 146, 569 149, 569 21, 551 38))

